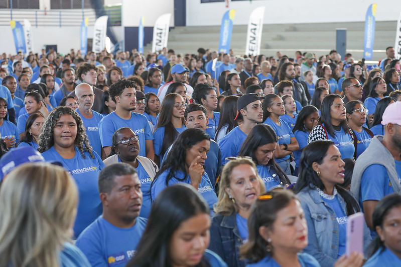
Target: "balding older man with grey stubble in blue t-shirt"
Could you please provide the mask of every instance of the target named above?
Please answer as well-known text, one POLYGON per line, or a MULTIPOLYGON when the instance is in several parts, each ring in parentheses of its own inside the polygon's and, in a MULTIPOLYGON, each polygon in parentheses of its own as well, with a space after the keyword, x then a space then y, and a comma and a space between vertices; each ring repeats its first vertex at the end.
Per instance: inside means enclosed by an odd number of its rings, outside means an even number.
POLYGON ((102 159, 106 158, 106 155, 102 155, 102 145, 100 142, 100 135, 97 126, 103 115, 92 110, 93 101, 95 94, 93 88, 87 83, 81 83, 75 87, 75 100, 79 106, 75 110, 82 119, 83 126, 86 129, 86 135, 88 136, 89 143, 102 159))

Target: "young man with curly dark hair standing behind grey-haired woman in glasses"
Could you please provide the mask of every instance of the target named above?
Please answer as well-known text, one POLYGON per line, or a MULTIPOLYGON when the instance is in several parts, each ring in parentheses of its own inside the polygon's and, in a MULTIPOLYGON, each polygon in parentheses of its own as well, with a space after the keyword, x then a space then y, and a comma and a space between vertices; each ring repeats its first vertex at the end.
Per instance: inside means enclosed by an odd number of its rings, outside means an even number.
POLYGON ((137 85, 132 81, 122 79, 110 86, 108 90, 111 100, 115 103, 115 111, 105 116, 99 122, 99 134, 104 155, 111 151, 111 137, 121 127, 129 127, 139 136, 140 156, 154 159, 153 133, 148 119, 139 113, 132 112, 137 108, 137 85))

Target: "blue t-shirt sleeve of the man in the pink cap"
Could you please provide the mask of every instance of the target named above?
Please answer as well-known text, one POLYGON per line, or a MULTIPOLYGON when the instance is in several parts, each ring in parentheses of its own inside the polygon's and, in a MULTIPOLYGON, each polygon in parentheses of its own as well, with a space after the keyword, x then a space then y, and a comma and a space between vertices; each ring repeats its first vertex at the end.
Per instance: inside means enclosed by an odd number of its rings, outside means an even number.
POLYGON ((362 201, 381 200, 384 197, 384 184, 387 176, 386 168, 379 164, 370 165, 365 169, 361 179, 362 201))

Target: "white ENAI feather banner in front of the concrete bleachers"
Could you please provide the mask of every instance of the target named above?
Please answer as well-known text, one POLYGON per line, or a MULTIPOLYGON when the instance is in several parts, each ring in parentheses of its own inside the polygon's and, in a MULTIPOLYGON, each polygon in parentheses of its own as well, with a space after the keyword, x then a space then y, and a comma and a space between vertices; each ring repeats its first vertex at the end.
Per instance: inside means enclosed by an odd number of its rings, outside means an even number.
POLYGON ((248 30, 246 32, 245 55, 260 55, 260 43, 262 40, 264 7, 256 8, 249 17, 248 30))

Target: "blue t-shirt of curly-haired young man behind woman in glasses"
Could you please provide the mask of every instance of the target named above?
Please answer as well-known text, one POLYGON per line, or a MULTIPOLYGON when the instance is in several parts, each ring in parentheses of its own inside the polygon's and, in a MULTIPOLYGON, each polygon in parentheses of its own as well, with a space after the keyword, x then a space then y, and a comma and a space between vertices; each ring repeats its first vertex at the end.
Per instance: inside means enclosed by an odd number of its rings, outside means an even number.
POLYGON ((113 111, 99 122, 98 127, 102 147, 111 146, 111 137, 119 128, 131 128, 139 136, 139 155, 146 157, 146 140, 153 140, 153 134, 148 119, 144 115, 131 112, 131 118, 125 120, 113 111))

